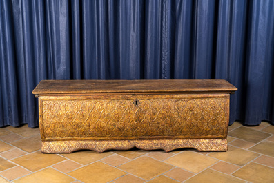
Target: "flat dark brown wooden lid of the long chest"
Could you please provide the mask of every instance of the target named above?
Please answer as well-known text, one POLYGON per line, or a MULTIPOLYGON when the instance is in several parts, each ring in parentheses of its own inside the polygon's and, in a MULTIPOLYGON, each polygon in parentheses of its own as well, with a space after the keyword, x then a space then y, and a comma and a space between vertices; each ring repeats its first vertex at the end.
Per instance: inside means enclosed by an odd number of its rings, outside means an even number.
POLYGON ((52 94, 118 94, 118 93, 234 93, 235 86, 221 79, 162 80, 42 80, 32 91, 52 94))

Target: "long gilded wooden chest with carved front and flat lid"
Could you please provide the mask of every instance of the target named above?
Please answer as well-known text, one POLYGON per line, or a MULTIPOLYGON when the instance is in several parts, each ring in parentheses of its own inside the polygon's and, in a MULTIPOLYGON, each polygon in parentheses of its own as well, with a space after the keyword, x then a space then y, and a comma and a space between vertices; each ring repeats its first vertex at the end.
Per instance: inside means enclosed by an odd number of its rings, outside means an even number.
POLYGON ((43 153, 133 147, 227 151, 230 93, 225 80, 43 80, 43 153))

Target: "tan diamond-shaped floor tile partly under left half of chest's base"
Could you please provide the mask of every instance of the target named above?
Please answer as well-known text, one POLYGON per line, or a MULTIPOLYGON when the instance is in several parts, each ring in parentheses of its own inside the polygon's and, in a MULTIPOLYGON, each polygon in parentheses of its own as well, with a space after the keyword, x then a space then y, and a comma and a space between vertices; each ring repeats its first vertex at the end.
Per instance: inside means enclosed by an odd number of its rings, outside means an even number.
POLYGON ((79 164, 90 164, 92 162, 96 162, 98 160, 103 159, 104 157, 108 157, 112 155, 111 152, 97 153, 95 151, 77 151, 74 153, 62 153, 60 155, 67 157, 70 160, 78 162, 79 164))

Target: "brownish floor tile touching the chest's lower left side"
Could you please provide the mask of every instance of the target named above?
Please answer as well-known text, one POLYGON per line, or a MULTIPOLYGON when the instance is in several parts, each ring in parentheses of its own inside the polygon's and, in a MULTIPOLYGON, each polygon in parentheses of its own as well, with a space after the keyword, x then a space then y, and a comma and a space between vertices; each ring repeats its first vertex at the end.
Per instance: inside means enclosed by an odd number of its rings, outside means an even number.
POLYGON ((12 144, 13 146, 17 146, 18 148, 21 148, 23 151, 31 153, 33 151, 41 149, 41 137, 40 135, 35 135, 32 137, 12 142, 10 144, 12 144))

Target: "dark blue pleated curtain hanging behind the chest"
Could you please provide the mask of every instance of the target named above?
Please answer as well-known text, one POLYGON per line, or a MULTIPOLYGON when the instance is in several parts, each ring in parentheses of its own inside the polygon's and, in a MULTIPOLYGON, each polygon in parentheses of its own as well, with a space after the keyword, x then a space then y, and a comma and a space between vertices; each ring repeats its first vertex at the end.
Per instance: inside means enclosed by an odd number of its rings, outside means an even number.
POLYGON ((274 122, 273 0, 0 0, 0 127, 42 79, 226 79, 231 123, 274 122))

